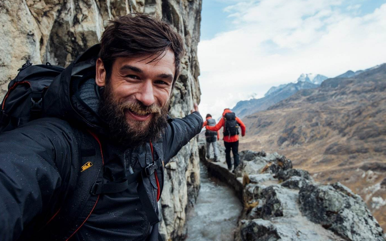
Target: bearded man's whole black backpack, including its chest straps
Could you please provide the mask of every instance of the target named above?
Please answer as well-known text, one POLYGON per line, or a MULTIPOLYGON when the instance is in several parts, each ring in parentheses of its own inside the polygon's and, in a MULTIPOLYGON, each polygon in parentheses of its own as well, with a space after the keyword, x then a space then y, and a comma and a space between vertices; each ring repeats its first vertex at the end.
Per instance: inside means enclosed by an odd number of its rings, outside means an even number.
MULTIPOLYGON (((91 48, 97 47, 97 45, 94 45, 91 48)), ((44 116, 44 113, 42 113, 44 93, 55 78, 61 78, 61 74, 69 73, 71 76, 78 76, 90 67, 95 68, 95 61, 79 61, 80 58, 67 67, 70 68, 69 71, 64 71, 63 67, 54 66, 48 62, 32 65, 27 61, 23 64, 16 78, 8 84, 8 91, 1 102, 0 134, 44 116)), ((73 198, 62 203, 62 207, 51 214, 48 219, 43 217, 40 220, 43 223, 39 224, 41 227, 38 232, 44 237, 43 240, 69 239, 87 220, 101 194, 122 192, 128 188, 130 183, 135 181, 138 182, 137 192, 150 224, 153 225, 159 222, 158 214, 152 207, 142 181, 143 178, 149 177, 155 172, 157 181, 160 180, 159 196, 161 195, 163 189, 163 162, 161 159, 154 160, 152 144, 150 143, 153 163, 142 169, 142 171, 130 175, 123 182, 105 184, 101 181, 103 179, 103 161, 102 146, 98 136, 91 131, 86 134, 78 131, 76 136, 79 143, 81 143, 81 159, 87 157, 88 160, 81 168, 88 168, 91 163, 100 167, 94 169, 94 173, 88 172, 87 175, 83 175, 84 180, 80 181, 82 186, 74 190, 73 198)), ((158 235, 158 239, 162 240, 160 235, 158 235)))

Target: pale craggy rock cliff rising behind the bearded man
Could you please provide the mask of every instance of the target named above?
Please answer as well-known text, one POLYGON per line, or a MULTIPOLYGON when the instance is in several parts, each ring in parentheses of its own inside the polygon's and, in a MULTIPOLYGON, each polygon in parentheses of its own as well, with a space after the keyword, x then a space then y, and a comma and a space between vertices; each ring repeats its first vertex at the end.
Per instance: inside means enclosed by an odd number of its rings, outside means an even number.
MULTIPOLYGON (((184 117, 200 102, 197 44, 200 40, 201 0, 1 0, 0 97, 17 69, 30 60, 68 65, 98 42, 108 20, 131 12, 167 20, 183 36, 187 55, 173 91, 172 117, 184 117)), ((186 234, 188 200, 197 197, 200 182, 197 141, 183 147, 166 165, 160 203, 161 234, 165 240, 186 234)))

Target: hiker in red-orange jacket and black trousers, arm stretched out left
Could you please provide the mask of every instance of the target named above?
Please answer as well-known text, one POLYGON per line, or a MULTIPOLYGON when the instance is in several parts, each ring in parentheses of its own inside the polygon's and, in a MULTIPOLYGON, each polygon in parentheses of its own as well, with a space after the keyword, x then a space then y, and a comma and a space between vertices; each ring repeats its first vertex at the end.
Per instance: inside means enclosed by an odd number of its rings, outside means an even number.
MULTIPOLYGON (((241 136, 245 136, 245 125, 235 113, 230 109, 224 109, 223 118, 215 126, 206 126, 207 130, 218 131, 223 128, 224 146, 225 146, 225 160, 228 165, 228 170, 232 170, 232 163, 230 160, 230 149, 232 149, 234 159, 234 169, 239 165, 239 126, 241 127, 241 136)), ((234 171, 233 169, 233 171, 234 171)))

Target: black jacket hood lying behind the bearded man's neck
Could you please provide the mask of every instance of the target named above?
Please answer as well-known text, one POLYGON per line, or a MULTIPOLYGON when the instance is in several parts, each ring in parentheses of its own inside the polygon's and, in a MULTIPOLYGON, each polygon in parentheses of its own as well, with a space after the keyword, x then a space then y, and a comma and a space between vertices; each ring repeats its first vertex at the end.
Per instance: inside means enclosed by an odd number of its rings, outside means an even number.
POLYGON ((100 44, 87 49, 57 76, 43 98, 43 113, 102 131, 95 66, 100 44))

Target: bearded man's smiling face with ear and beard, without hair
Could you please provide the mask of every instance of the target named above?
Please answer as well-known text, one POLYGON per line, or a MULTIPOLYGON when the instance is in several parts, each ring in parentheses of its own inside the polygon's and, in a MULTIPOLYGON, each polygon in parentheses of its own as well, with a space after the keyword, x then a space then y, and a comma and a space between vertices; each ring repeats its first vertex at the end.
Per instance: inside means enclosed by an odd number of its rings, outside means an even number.
POLYGON ((105 87, 100 114, 113 136, 119 139, 130 136, 128 142, 159 136, 166 125, 176 72, 174 60, 170 49, 160 56, 117 58, 111 77, 106 80, 103 62, 98 59, 96 83, 105 87))

